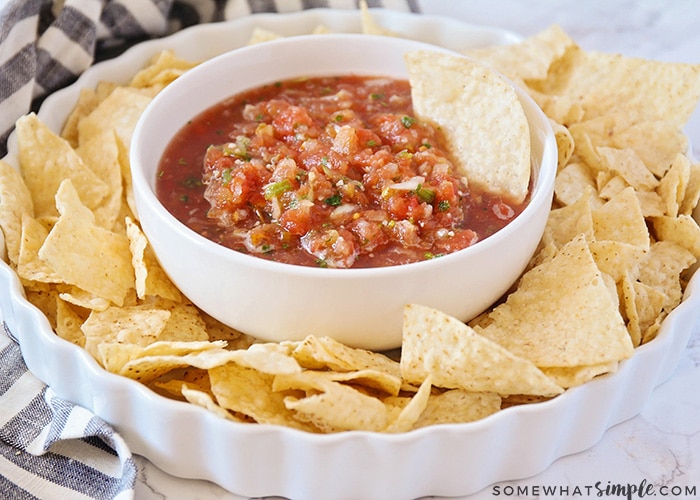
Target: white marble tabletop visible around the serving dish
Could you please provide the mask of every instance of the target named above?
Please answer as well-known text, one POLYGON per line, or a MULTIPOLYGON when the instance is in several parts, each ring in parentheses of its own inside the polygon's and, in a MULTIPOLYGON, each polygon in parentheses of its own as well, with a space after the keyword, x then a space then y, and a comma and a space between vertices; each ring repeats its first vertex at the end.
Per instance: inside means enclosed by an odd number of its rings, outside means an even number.
MULTIPOLYGON (((523 36, 557 23, 587 50, 700 63, 698 0, 419 0, 419 5, 423 14, 523 36)), ((700 158, 700 110, 687 131, 700 158)), ((174 478, 144 459, 138 463, 138 500, 242 498, 211 483, 174 478)), ((700 328, 675 373, 653 391, 641 414, 535 477, 499 483, 468 498, 598 498, 596 483, 602 488, 644 483, 657 498, 700 498, 700 328)))

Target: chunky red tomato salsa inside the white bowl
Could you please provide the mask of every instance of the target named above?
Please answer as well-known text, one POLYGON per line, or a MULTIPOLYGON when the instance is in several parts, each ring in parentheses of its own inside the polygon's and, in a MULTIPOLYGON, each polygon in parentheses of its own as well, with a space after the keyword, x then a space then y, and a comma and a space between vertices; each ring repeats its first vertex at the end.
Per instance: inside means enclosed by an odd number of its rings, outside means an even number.
POLYGON ((166 208, 234 250, 290 264, 405 264, 466 248, 524 207, 470 188, 407 81, 278 82, 187 123, 157 181, 166 208))

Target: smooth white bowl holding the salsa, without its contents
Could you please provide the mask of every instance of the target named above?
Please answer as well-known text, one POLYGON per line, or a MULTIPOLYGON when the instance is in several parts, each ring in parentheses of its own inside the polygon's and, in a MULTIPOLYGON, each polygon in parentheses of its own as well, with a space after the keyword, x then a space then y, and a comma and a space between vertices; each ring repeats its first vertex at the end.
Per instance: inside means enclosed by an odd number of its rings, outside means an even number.
POLYGON ((429 261, 372 269, 321 269, 264 260, 189 229, 155 195, 159 160, 188 120, 225 98, 300 76, 359 74, 408 78, 403 54, 424 43, 336 34, 290 37, 240 48, 176 80, 146 109, 131 144, 141 225, 161 265, 204 311, 263 340, 330 336, 382 350, 401 344, 402 311, 416 303, 468 320, 521 274, 544 230, 557 166, 548 120, 518 91, 530 125, 534 183, 525 210, 496 234, 429 261))

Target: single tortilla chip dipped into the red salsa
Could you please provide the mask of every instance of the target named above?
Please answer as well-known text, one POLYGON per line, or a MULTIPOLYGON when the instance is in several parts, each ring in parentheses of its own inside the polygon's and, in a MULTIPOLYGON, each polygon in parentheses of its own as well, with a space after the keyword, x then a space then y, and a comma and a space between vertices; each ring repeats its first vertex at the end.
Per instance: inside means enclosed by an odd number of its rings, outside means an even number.
POLYGON ((404 56, 417 117, 442 130, 456 168, 470 183, 525 199, 530 131, 515 89, 466 57, 419 50, 404 56))

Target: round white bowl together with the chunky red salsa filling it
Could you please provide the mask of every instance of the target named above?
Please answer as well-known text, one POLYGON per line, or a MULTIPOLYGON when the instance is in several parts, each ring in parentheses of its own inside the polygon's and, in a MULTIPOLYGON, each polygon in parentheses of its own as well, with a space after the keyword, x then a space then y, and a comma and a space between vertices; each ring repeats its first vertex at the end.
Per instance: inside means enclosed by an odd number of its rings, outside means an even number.
POLYGON ((468 320, 509 289, 551 207, 549 122, 511 87, 532 171, 525 197, 490 193, 454 165, 444 127, 400 102, 415 90, 404 56, 417 52, 461 58, 392 37, 290 37, 203 63, 154 99, 131 144, 134 196, 161 265, 190 300, 264 340, 315 334, 382 350, 400 345, 407 304, 468 320), (374 111, 342 104, 352 89, 374 111), (303 108, 281 100, 285 90, 316 101, 303 108), (308 111, 324 97, 333 109, 315 121, 308 111), (244 120, 224 130, 231 115, 244 120), (225 118, 212 127, 221 140, 177 152, 173 138, 212 116, 225 118))

